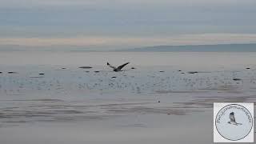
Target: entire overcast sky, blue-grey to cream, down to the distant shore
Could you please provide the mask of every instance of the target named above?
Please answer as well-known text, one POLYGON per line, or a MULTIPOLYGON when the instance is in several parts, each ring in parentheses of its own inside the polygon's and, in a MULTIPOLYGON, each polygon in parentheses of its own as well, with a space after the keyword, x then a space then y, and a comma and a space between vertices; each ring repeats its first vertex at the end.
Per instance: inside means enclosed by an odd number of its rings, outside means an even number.
POLYGON ((255 7, 255 0, 0 0, 0 45, 250 43, 255 7))

